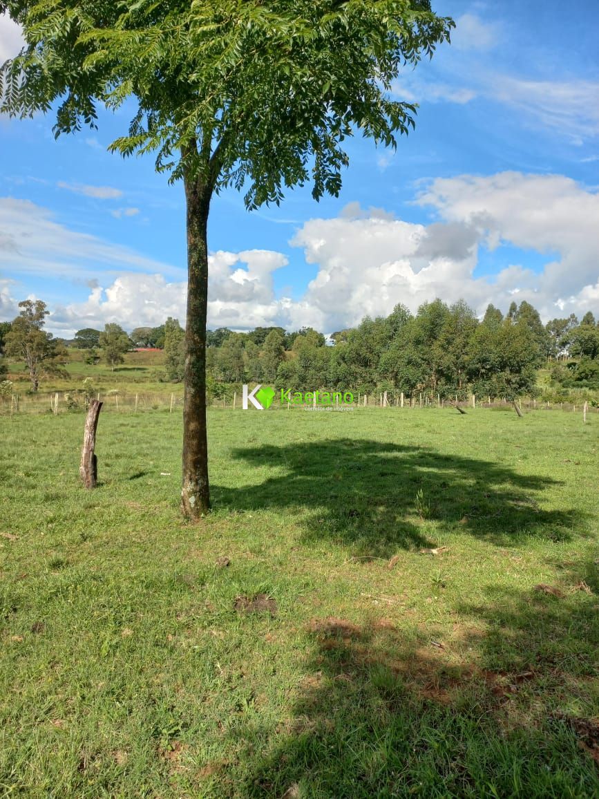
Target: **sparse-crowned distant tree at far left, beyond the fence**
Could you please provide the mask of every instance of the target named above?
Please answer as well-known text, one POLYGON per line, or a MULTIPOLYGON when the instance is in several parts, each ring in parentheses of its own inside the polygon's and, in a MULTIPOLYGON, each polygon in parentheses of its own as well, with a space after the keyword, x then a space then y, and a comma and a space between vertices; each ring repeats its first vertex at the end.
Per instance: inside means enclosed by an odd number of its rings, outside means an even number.
POLYGON ((42 328, 46 316, 46 303, 42 300, 23 300, 18 304, 21 312, 6 334, 6 355, 25 361, 31 380, 31 390, 38 391, 42 376, 62 374, 66 362, 66 351, 52 333, 42 328))

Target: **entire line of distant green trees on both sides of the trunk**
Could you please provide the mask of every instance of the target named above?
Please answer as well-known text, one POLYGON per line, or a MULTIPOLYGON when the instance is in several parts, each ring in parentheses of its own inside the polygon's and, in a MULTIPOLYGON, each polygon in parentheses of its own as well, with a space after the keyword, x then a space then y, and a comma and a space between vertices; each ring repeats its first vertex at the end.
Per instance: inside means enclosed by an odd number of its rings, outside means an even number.
MULTIPOLYGON (((43 375, 60 371, 67 351, 43 330, 48 311, 41 300, 19 307, 12 323, 0 324, 0 354, 22 358, 37 391, 43 375)), ((89 364, 102 359, 112 369, 129 349, 160 348, 163 379, 183 380, 184 329, 172 317, 131 333, 115 323, 103 331, 83 328, 70 344, 85 350, 89 364)), ((389 316, 367 316, 328 341, 313 328, 259 327, 243 333, 217 328, 208 331, 206 363, 216 395, 226 384, 264 382, 303 392, 425 392, 442 398, 474 392, 513 399, 534 392, 544 364, 565 388, 599 388, 599 324, 588 312, 580 322, 570 315, 544 325, 526 301, 512 303, 506 316, 491 304, 478 320, 463 300, 452 305, 434 300, 415 314, 397 305, 389 316)), ((0 377, 3 373, 0 357, 0 377)))

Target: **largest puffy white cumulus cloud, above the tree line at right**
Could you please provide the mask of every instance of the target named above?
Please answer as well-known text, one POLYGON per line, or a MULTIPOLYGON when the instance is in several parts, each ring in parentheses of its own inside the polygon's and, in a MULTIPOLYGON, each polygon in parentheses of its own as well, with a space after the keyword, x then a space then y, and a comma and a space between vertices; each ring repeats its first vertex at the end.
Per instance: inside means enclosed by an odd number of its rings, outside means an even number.
POLYGON ((399 302, 415 311, 435 296, 463 298, 478 313, 490 302, 505 310, 515 296, 545 320, 596 306, 597 193, 563 176, 500 173, 432 181, 418 202, 439 220, 415 225, 351 204, 338 219, 303 225, 292 244, 319 266, 303 324, 329 331, 399 302), (499 259, 504 244, 522 248, 524 265, 506 261, 497 274, 476 276, 481 245, 499 259), (544 267, 527 268, 526 251, 545 255, 544 267))

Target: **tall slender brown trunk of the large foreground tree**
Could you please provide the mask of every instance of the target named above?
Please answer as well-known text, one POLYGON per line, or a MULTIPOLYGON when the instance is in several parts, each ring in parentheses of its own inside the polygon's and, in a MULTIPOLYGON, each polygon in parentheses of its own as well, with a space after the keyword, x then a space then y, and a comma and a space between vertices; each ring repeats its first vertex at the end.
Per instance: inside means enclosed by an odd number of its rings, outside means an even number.
POLYGON ((187 205, 187 321, 183 403, 181 511, 200 519, 210 507, 206 434, 206 314, 208 310, 208 210, 211 189, 184 177, 187 205))

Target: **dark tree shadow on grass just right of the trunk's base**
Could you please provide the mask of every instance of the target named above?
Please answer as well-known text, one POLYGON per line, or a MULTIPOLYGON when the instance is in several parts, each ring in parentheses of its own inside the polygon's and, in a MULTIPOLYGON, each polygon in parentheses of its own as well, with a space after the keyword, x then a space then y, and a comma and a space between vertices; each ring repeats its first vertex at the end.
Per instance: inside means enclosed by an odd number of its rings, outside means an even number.
POLYGON ((435 535, 462 530, 504 547, 529 536, 568 540, 582 520, 581 511, 539 507, 556 480, 431 447, 334 439, 247 447, 233 458, 279 467, 279 474, 256 485, 216 487, 217 506, 293 509, 303 518, 305 543, 327 538, 367 555, 433 546, 428 520, 435 535))

